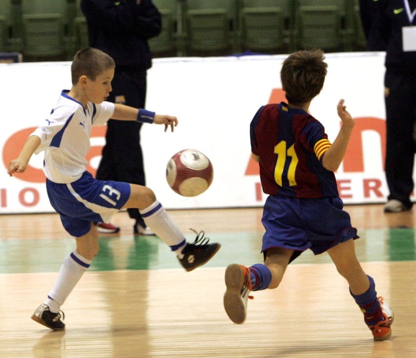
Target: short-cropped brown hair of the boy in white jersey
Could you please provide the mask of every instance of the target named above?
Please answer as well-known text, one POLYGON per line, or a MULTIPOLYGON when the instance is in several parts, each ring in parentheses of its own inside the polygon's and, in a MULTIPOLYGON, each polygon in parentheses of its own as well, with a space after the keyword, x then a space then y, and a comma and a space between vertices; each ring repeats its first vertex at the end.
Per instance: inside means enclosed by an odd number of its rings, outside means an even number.
POLYGON ((94 47, 84 48, 75 54, 72 61, 72 84, 77 84, 81 76, 95 81, 105 70, 115 67, 114 60, 105 52, 94 47))

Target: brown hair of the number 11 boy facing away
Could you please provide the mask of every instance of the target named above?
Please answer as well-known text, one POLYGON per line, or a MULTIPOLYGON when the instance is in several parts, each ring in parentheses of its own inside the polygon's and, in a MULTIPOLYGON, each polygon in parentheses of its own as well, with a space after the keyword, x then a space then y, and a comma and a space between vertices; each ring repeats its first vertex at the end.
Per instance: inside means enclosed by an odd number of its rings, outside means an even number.
POLYGON ((288 102, 306 103, 321 92, 328 64, 320 49, 297 51, 282 65, 280 80, 288 102))

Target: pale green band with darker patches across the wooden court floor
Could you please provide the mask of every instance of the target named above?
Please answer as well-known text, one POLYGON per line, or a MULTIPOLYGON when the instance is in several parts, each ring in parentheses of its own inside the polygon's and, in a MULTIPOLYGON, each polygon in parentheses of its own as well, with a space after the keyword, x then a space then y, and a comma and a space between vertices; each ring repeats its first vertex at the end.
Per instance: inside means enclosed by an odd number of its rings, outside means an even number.
MULTIPOLYGON (((355 240, 361 262, 416 259, 416 229, 359 230, 355 240)), ((220 242, 220 251, 205 267, 225 267, 229 263, 251 265, 263 262, 260 254, 262 234, 223 233, 209 235, 220 242)), ((193 241, 193 235, 187 235, 193 241)), ((62 260, 75 248, 69 238, 42 240, 0 240, 0 273, 57 272, 62 260)), ((310 250, 293 264, 331 262, 327 254, 314 256, 310 250)), ((146 270, 180 268, 175 255, 157 237, 108 236, 100 238, 100 252, 90 270, 146 270)))

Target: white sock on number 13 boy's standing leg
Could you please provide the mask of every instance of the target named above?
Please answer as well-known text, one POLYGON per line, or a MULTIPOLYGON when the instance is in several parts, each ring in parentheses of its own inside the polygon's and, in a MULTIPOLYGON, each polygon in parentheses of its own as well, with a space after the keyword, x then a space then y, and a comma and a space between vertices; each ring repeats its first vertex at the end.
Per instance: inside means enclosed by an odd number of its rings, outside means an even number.
POLYGON ((44 302, 44 304, 49 306, 51 312, 59 312, 61 305, 65 302, 91 262, 91 260, 83 258, 77 251, 72 252, 63 260, 58 278, 44 302))

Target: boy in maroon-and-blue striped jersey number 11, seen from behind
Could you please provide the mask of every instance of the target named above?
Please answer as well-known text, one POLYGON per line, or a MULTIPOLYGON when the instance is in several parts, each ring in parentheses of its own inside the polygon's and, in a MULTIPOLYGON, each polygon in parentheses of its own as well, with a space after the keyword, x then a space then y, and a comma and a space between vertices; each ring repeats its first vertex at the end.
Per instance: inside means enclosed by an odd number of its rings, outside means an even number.
POLYGON ((291 54, 280 72, 288 103, 262 106, 251 121, 252 157, 269 194, 262 218, 264 264, 227 267, 224 307, 234 323, 243 323, 250 291, 276 288, 288 264, 305 250, 315 255, 326 251, 347 279, 374 340, 385 340, 392 335, 393 312, 377 298, 373 278, 356 258, 357 230, 342 210, 333 173, 344 158, 354 119, 341 99, 337 111, 342 127, 331 144, 323 125, 308 113, 324 85, 324 59, 321 50, 291 54))

